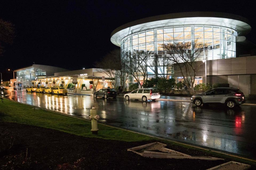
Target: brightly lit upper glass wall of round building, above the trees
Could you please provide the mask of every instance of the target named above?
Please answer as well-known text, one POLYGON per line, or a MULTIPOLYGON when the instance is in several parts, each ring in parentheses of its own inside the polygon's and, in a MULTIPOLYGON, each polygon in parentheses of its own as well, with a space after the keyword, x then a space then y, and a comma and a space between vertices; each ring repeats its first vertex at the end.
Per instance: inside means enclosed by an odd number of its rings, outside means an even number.
MULTIPOLYGON (((188 42, 197 39, 200 43, 207 43, 205 50, 198 60, 215 60, 236 57, 236 30, 216 25, 178 25, 171 27, 152 28, 133 33, 121 40, 121 54, 137 54, 140 52, 158 53, 162 51, 162 44, 174 42, 188 42)), ((153 56, 153 55, 152 55, 153 56)))

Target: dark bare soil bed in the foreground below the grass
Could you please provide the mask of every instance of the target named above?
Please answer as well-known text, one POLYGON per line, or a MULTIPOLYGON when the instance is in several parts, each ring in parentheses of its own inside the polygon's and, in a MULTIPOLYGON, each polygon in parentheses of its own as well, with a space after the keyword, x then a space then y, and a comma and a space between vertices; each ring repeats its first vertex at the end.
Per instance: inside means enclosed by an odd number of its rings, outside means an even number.
MULTIPOLYGON (((0 150, 0 169, 207 169, 229 160, 144 158, 127 148, 147 142, 123 142, 87 138, 53 129, 0 123, 0 134, 10 147, 0 150), (9 135, 9 136, 8 136, 9 135)), ((167 148, 200 156, 212 156, 179 146, 167 148)))

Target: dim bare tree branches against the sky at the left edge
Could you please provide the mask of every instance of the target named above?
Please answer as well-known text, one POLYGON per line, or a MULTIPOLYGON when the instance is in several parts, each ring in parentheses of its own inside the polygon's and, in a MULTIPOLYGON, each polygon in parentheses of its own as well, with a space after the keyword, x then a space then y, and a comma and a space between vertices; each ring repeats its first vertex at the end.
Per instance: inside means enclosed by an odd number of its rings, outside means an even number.
POLYGON ((0 55, 4 52, 2 44, 12 44, 14 37, 14 25, 0 19, 0 55))

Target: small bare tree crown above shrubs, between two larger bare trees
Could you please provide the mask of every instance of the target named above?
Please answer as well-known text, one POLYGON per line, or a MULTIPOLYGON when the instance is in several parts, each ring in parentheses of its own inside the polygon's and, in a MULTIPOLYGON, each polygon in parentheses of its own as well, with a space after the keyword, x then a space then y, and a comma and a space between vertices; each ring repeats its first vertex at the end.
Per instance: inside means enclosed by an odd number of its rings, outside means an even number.
POLYGON ((155 54, 154 60, 149 60, 149 67, 154 72, 155 76, 158 74, 161 78, 167 79, 168 74, 173 71, 173 62, 166 57, 166 54, 155 54))

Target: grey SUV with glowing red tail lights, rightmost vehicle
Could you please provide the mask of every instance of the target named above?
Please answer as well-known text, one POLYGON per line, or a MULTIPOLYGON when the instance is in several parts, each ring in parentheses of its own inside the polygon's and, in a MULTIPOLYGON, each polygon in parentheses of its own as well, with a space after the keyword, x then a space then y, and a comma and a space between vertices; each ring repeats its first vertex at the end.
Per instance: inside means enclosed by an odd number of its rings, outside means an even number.
POLYGON ((229 108, 233 108, 245 103, 245 95, 237 88, 214 88, 205 93, 192 96, 191 103, 194 103, 196 106, 206 103, 222 103, 229 108))

